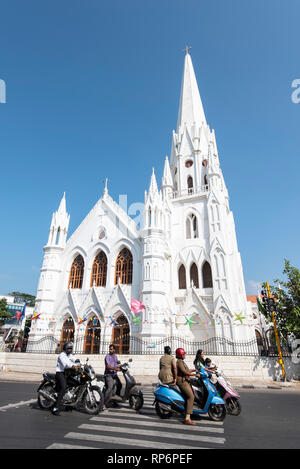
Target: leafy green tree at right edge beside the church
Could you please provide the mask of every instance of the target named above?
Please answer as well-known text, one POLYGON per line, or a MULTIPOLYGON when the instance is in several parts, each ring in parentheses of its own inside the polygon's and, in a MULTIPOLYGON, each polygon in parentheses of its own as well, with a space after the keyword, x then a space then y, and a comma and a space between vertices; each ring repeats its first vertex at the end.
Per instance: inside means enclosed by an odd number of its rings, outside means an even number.
MULTIPOLYGON (((286 281, 274 280, 277 286, 270 285, 270 291, 276 299, 276 327, 284 342, 287 342, 291 334, 300 339, 300 271, 284 259, 283 274, 286 281)), ((265 313, 265 316, 271 320, 270 314, 265 313)))

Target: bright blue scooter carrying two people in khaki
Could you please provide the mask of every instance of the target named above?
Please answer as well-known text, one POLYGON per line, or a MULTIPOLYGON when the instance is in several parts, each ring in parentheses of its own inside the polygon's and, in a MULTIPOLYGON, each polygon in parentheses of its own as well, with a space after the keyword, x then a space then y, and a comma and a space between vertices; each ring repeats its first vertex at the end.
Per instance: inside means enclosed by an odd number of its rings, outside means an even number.
MULTIPOLYGON (((209 380, 205 370, 199 372, 200 378, 191 378, 190 383, 194 391, 194 410, 192 415, 207 414, 212 420, 220 422, 226 416, 224 400, 209 380)), ((155 410, 162 419, 170 418, 174 412, 185 413, 185 398, 176 385, 158 383, 154 391, 155 410)))

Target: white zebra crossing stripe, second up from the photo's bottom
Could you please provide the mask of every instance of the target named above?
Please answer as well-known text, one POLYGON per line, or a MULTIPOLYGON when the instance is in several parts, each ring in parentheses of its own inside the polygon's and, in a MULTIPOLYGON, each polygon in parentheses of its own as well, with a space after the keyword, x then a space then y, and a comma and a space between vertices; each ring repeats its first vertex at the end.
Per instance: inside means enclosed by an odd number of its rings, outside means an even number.
POLYGON ((203 447, 196 447, 196 446, 185 446, 185 445, 178 445, 177 443, 164 443, 158 441, 148 441, 148 440, 134 440, 130 438, 121 438, 115 436, 108 436, 108 435, 93 435, 87 433, 76 433, 70 432, 65 435, 65 438, 69 438, 72 440, 84 440, 84 441, 96 441, 100 443, 110 443, 111 445, 123 445, 123 446, 134 446, 140 448, 156 448, 156 449, 208 449, 203 447))

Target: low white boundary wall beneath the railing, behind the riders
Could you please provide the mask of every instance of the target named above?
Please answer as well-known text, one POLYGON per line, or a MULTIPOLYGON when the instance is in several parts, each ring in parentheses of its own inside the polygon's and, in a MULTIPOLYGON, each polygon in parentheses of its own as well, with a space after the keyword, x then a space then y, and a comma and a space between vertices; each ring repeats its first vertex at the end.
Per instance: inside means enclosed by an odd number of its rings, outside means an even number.
MULTIPOLYGON (((104 355, 76 355, 82 362, 89 358, 89 363, 96 373, 104 372, 104 355)), ((123 363, 132 358, 131 372, 136 376, 157 376, 159 355, 119 355, 123 363)), ((228 378, 253 378, 259 380, 278 380, 281 367, 276 358, 242 357, 242 356, 210 356, 228 378)), ((186 363, 193 368, 194 356, 188 355, 186 363)), ((38 353, 0 353, 0 370, 22 373, 55 372, 57 355, 38 353)), ((300 379, 300 365, 292 363, 290 358, 284 359, 288 379, 300 379)))

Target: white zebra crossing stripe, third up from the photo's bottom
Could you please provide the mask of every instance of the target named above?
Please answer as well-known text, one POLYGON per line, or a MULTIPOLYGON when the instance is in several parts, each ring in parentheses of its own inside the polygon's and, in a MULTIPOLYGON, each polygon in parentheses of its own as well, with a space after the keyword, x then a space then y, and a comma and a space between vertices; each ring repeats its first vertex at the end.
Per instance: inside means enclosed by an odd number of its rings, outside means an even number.
MULTIPOLYGON (((100 432, 116 432, 116 433, 126 433, 128 434, 129 429, 128 428, 123 428, 120 426, 107 426, 105 423, 103 425, 91 425, 91 424, 82 424, 78 427, 80 430, 94 430, 94 431, 100 431, 100 432)), ((157 436, 161 438, 171 438, 171 439, 176 439, 177 434, 176 433, 170 433, 170 432, 162 432, 161 430, 144 430, 144 429, 130 429, 131 435, 136 434, 138 436, 157 436)), ((185 435, 184 433, 180 433, 180 436, 178 435, 178 439, 180 440, 189 440, 191 441, 192 435, 185 435)), ((193 440, 194 443, 197 441, 204 442, 204 443, 214 443, 214 444, 224 444, 225 443, 225 438, 220 438, 220 437, 214 437, 214 436, 205 436, 205 435, 198 435, 195 440, 193 440)), ((174 443, 176 445, 176 443, 174 443)))

